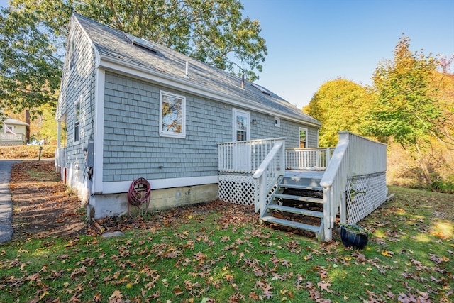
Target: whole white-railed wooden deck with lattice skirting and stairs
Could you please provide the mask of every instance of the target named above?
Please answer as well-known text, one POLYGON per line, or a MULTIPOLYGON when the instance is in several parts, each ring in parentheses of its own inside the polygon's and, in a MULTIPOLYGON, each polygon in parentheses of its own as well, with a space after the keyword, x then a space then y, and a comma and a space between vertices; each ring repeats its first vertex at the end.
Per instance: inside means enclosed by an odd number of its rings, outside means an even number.
POLYGON ((220 199, 254 205, 260 221, 328 241, 336 222, 355 224, 386 201, 386 145, 349 132, 335 149, 286 150, 285 138, 221 143, 218 184, 220 199))

